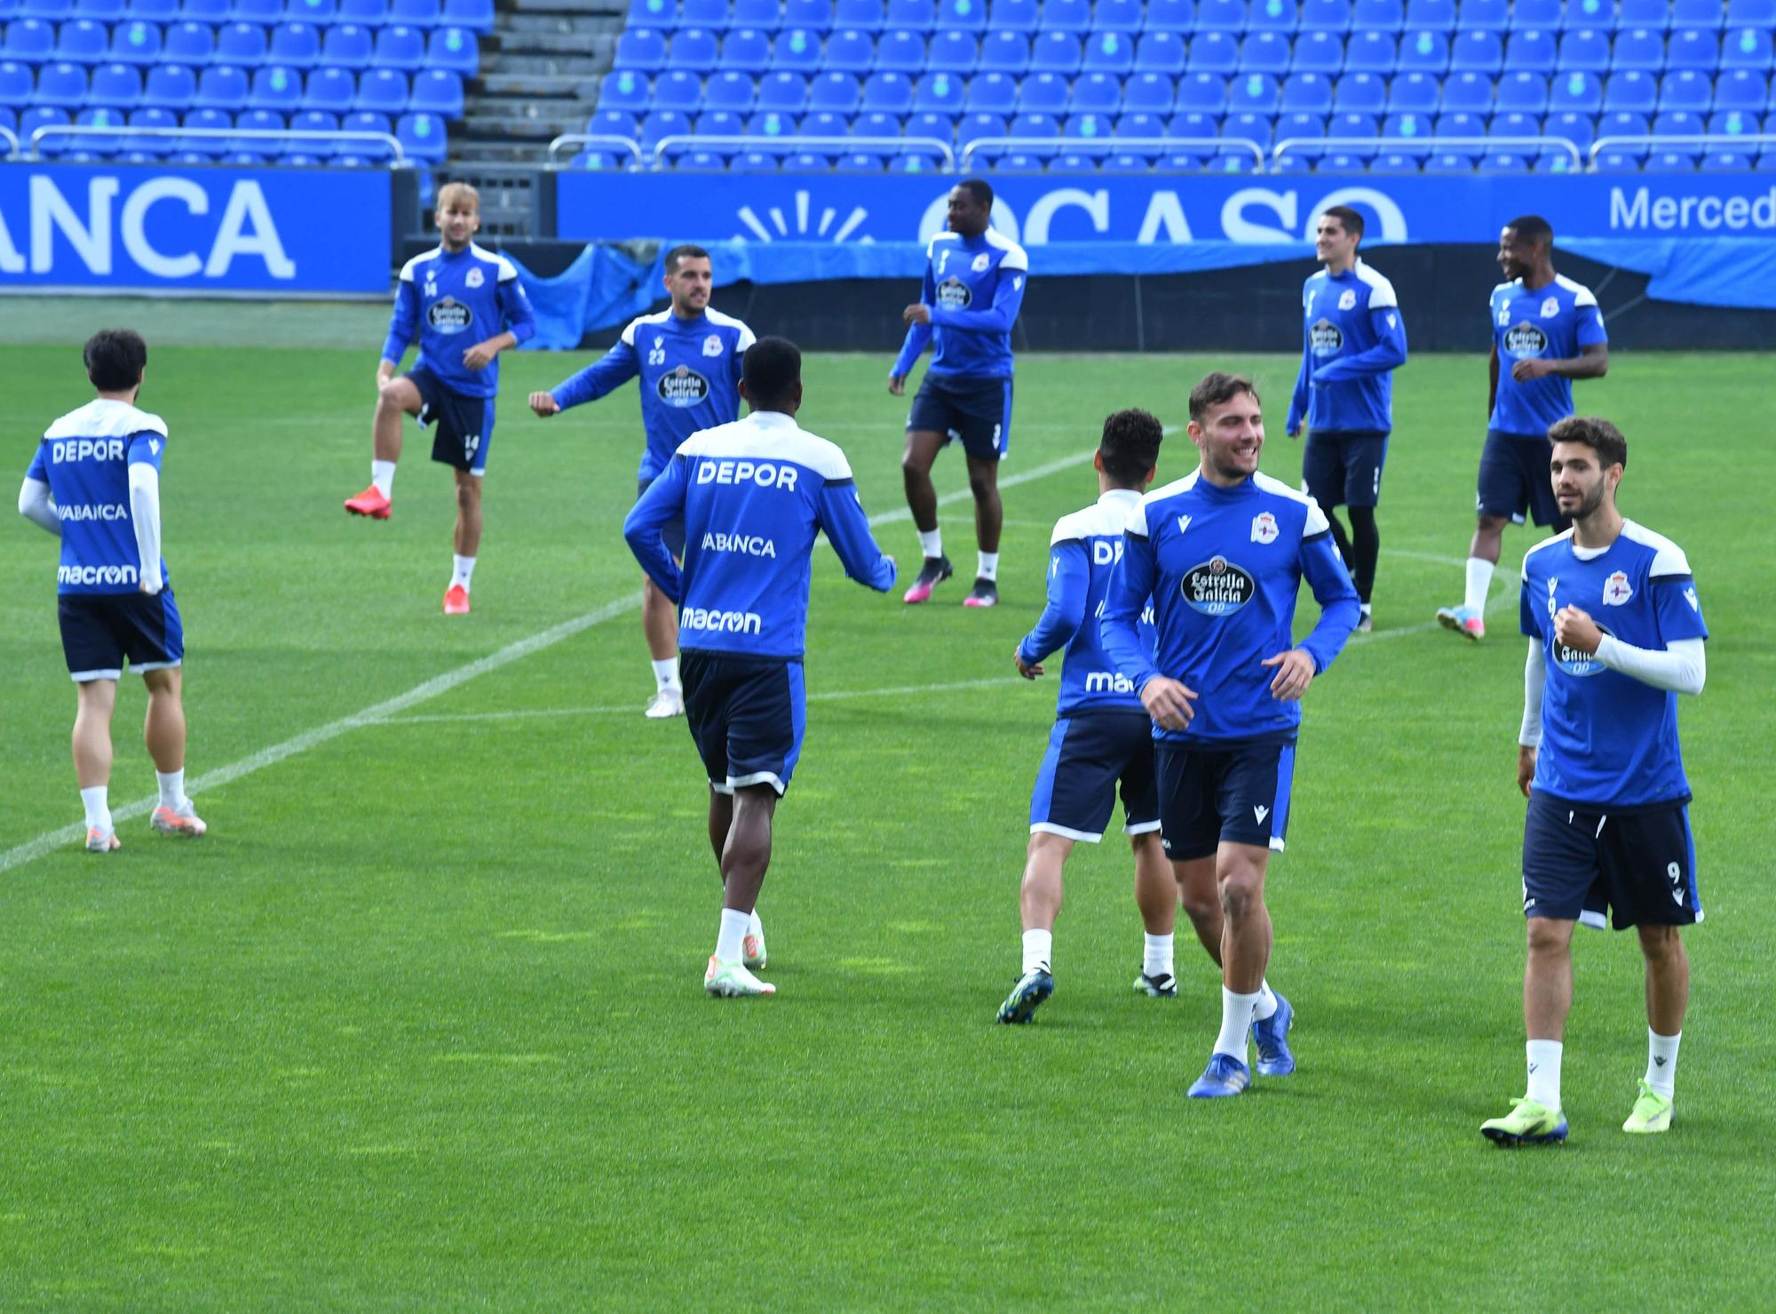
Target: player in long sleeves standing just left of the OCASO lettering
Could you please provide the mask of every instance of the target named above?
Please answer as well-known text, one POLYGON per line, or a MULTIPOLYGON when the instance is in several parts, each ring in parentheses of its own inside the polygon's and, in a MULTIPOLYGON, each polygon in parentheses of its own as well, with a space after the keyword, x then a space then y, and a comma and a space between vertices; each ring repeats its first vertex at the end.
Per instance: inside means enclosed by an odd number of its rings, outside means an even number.
POLYGON ((968 487, 975 494, 975 542, 980 561, 964 607, 998 602, 998 540, 1003 510, 998 497, 998 463, 1011 446, 1011 327, 1018 321, 1030 257, 1023 247, 991 227, 993 188, 966 178, 950 188, 948 231, 925 249, 925 286, 908 305, 906 343, 888 375, 888 391, 906 394, 913 362, 934 341, 925 382, 906 417, 906 504, 913 511, 920 550, 925 556, 906 602, 925 602, 931 590, 950 577, 938 531, 938 490, 931 465, 938 451, 961 439, 968 455, 968 487))

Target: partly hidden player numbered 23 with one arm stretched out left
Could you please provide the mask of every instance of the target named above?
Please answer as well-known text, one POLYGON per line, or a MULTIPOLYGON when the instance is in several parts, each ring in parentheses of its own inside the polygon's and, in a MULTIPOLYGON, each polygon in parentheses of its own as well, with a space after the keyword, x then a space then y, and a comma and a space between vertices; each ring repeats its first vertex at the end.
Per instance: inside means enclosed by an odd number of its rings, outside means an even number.
MULTIPOLYGON (((531 410, 543 419, 583 401, 597 401, 630 378, 641 378, 641 453, 638 497, 671 463, 673 453, 698 430, 730 424, 741 414, 741 357, 753 344, 753 330, 733 316, 710 309, 714 273, 702 247, 666 252, 666 293, 671 307, 630 320, 623 336, 602 359, 581 369, 551 392, 531 392, 531 410)), ((684 559, 684 524, 664 527, 673 559, 684 559)), ((678 616, 652 579, 641 581, 641 630, 654 662, 654 698, 645 716, 662 719, 684 714, 678 682, 678 616)))

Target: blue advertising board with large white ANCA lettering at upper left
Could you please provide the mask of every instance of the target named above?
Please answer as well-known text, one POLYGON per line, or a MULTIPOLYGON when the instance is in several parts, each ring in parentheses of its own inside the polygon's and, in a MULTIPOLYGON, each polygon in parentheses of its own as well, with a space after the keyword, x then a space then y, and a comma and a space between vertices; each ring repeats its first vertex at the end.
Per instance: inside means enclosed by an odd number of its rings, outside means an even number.
POLYGON ((391 204, 373 169, 0 165, 0 289, 380 295, 391 204))

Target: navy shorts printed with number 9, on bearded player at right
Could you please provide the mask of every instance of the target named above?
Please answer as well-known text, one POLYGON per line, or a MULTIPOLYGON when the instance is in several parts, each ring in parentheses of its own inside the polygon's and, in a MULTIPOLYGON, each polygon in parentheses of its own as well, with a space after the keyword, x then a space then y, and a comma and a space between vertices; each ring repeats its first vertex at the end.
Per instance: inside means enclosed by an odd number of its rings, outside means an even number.
POLYGON ((1689 804, 1609 811, 1529 794, 1524 817, 1524 916, 1616 930, 1701 922, 1689 804))

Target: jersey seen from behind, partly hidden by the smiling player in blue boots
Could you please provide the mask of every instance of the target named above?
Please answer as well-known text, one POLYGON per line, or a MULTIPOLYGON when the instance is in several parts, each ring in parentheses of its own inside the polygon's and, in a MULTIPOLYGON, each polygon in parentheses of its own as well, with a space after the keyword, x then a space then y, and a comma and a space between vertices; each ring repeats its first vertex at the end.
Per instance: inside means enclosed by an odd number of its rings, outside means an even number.
MULTIPOLYGON (((1083 511, 1055 522, 1048 542, 1048 607, 1018 645, 1025 662, 1039 662, 1066 646, 1055 716, 1144 710, 1140 693, 1110 661, 1098 629, 1110 572, 1122 559, 1122 531, 1138 506, 1138 492, 1112 488, 1083 511)), ((1140 643, 1151 659, 1151 606, 1140 616, 1140 643)))

